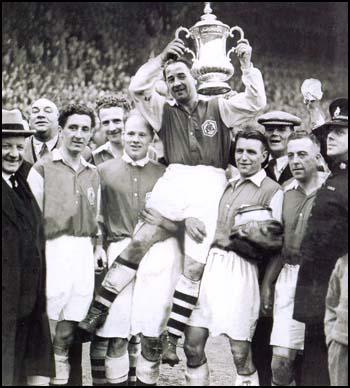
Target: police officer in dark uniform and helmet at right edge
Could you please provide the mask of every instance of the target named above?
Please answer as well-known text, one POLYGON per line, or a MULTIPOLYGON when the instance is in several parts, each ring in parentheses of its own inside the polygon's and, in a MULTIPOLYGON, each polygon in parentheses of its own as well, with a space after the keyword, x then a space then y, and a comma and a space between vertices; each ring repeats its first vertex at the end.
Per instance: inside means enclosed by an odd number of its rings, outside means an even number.
POLYGON ((329 385, 325 298, 336 260, 348 251, 348 99, 336 99, 329 111, 331 120, 318 131, 327 134, 331 175, 317 193, 301 244, 295 294, 294 319, 306 323, 302 385, 329 385))

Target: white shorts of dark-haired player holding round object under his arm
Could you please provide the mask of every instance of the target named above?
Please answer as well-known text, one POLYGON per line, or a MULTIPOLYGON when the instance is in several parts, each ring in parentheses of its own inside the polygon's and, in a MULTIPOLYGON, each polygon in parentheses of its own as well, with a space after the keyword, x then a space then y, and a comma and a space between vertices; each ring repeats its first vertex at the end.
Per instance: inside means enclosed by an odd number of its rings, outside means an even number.
POLYGON ((212 248, 188 325, 207 328, 212 336, 251 342, 259 309, 257 266, 234 252, 212 248))

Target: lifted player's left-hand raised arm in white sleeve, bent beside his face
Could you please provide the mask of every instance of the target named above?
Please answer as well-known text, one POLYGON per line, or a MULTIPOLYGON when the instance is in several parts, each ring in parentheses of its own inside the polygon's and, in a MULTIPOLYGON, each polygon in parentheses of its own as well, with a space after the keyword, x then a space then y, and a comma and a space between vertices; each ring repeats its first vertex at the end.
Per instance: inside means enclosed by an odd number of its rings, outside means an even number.
POLYGON ((183 55, 184 50, 185 46, 181 39, 171 41, 161 54, 139 68, 130 83, 131 98, 156 131, 159 131, 162 123, 166 98, 157 93, 155 85, 163 78, 164 63, 171 57, 183 55))

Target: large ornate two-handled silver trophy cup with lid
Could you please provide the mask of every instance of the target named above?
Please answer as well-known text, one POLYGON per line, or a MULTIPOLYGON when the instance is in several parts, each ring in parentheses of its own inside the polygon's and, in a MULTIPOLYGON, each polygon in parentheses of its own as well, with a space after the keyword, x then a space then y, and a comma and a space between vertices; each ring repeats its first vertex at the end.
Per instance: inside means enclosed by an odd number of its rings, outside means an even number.
POLYGON ((231 88, 227 80, 234 73, 230 55, 236 47, 232 47, 226 53, 226 40, 229 36, 233 38, 234 32, 237 31, 240 34, 238 43, 247 43, 243 30, 238 26, 230 28, 217 20, 210 3, 207 2, 201 20, 189 30, 179 27, 175 33, 176 38, 179 38, 183 31, 186 32, 186 38, 195 41, 196 54, 189 48, 186 51, 193 56, 192 73, 199 81, 198 93, 217 95, 229 92, 231 88))

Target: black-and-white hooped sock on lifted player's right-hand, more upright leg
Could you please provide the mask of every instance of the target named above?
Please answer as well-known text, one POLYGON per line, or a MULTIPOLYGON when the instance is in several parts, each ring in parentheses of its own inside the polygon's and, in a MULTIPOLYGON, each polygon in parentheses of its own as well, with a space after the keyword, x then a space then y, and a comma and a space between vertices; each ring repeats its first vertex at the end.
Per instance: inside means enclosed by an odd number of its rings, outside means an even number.
POLYGON ((197 304, 200 284, 200 280, 194 281, 184 275, 180 276, 175 288, 173 306, 168 321, 169 334, 177 337, 182 336, 186 323, 197 304))

